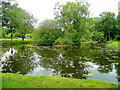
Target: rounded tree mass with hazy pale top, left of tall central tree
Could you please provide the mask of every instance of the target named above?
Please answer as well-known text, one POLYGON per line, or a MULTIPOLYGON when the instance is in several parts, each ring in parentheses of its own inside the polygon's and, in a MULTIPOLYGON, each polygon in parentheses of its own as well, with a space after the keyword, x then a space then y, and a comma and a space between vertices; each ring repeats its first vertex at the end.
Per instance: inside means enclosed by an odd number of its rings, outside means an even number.
POLYGON ((38 45, 53 45, 55 40, 62 36, 62 30, 57 27, 57 21, 45 20, 33 33, 33 37, 38 45))

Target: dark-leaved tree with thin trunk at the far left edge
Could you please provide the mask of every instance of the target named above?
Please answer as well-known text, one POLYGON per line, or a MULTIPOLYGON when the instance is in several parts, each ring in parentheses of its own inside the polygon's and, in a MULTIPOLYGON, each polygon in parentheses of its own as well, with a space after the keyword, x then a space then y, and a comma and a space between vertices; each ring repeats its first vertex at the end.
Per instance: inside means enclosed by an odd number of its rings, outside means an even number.
POLYGON ((7 12, 12 8, 16 8, 17 3, 15 2, 15 0, 4 0, 4 1, 1 1, 1 6, 2 6, 1 8, 2 9, 2 12, 1 12, 2 28, 3 30, 8 30, 8 33, 11 33, 11 42, 12 42, 12 35, 13 35, 13 32, 15 31, 16 25, 11 25, 10 17, 8 16, 7 12))

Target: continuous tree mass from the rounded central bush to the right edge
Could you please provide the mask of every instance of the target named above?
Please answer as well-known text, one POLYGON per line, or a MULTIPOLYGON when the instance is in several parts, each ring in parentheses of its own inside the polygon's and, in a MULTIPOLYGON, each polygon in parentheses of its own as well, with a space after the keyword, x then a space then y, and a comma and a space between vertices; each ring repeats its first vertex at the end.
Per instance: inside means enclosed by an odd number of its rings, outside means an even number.
POLYGON ((55 5, 55 19, 40 23, 34 32, 39 45, 67 44, 81 42, 106 42, 120 39, 120 16, 112 12, 102 12, 100 17, 89 17, 87 2, 68 2, 55 5))

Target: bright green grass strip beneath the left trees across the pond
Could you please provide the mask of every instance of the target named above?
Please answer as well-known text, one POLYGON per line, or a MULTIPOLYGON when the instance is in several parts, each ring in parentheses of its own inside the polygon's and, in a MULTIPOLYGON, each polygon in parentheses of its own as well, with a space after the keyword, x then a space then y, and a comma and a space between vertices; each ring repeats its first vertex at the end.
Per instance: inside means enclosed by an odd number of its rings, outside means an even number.
MULTIPOLYGON (((12 45, 29 44, 32 42, 32 39, 25 39, 24 41, 22 41, 21 39, 13 39, 12 45)), ((0 45, 11 45, 11 39, 0 39, 0 45)))

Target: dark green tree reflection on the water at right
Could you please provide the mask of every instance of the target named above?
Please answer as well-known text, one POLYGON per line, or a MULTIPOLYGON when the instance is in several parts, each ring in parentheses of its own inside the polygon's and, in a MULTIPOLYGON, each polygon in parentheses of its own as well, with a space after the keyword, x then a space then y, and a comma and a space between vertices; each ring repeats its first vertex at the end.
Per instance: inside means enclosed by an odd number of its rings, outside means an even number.
POLYGON ((118 59, 119 57, 117 56, 116 51, 102 48, 100 53, 94 54, 93 63, 99 65, 99 72, 109 73, 112 72, 113 65, 118 63, 118 59))

